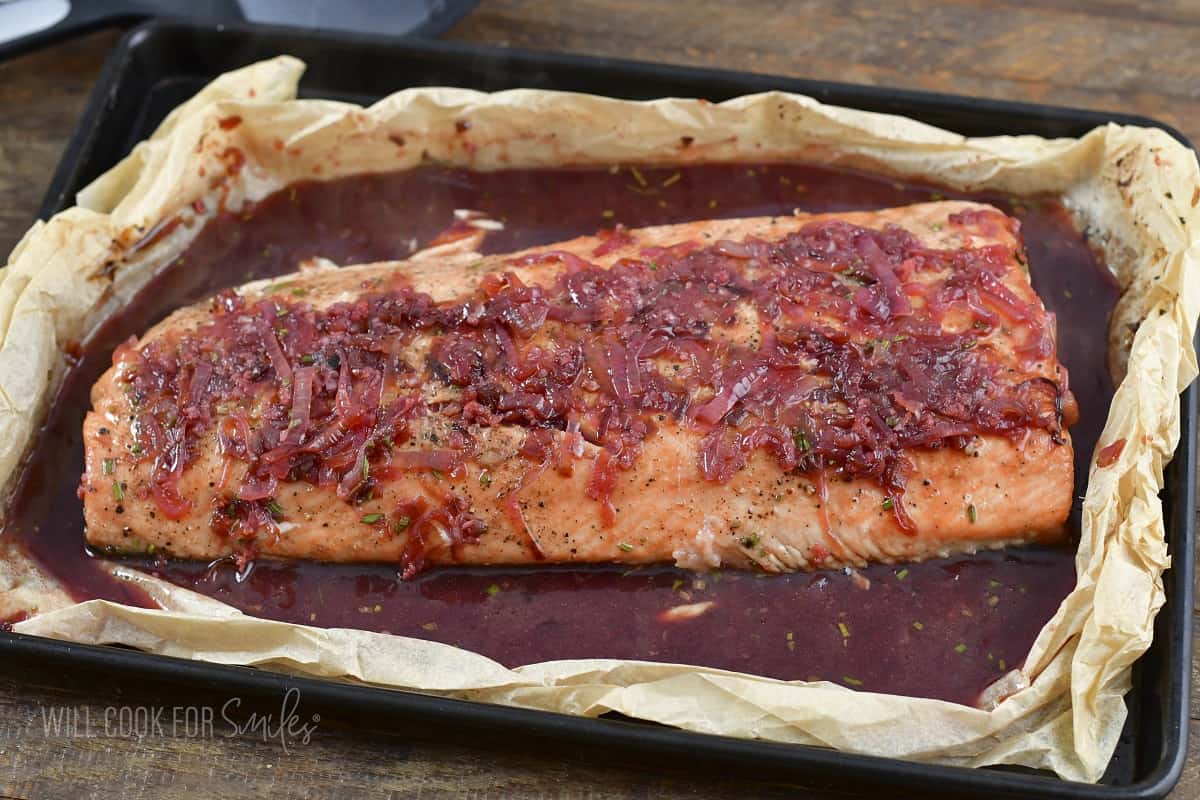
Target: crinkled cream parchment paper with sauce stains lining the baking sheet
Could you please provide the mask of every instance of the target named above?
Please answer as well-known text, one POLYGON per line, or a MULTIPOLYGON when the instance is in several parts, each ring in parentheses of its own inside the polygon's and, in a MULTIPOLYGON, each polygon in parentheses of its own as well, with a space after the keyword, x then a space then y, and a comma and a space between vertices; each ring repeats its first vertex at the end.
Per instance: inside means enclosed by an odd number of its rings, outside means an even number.
POLYGON ((1200 302, 1200 170, 1189 150, 1160 131, 1116 125, 1080 139, 972 139, 776 92, 712 104, 415 89, 362 109, 294 100, 302 68, 281 56, 221 77, 84 190, 77 207, 35 224, 17 246, 0 272, 0 481, 10 491, 59 385, 64 348, 186 247, 202 219, 169 230, 162 223, 193 200, 239 207, 296 180, 426 162, 497 169, 797 160, 962 190, 1055 193, 1103 249, 1122 288, 1110 348, 1128 375, 1100 443, 1128 444, 1115 464, 1091 469, 1076 589, 1009 676, 1010 687, 1025 687, 991 710, 677 664, 506 669, 448 645, 254 619, 119 567, 169 610, 72 604, 10 559, 0 563, 0 589, 8 590, 0 612, 5 602, 40 612, 18 631, 572 714, 616 710, 734 736, 1100 776, 1170 563, 1158 492, 1178 440, 1177 396, 1196 374, 1200 302))

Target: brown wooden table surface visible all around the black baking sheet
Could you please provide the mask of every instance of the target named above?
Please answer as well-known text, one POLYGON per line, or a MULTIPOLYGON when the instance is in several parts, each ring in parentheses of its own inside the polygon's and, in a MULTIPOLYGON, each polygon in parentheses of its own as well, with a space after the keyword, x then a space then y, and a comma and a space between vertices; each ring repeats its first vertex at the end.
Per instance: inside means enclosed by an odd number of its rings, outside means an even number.
MULTIPOLYGON (((0 252, 32 222, 118 36, 94 34, 0 65, 0 252)), ((485 0, 448 37, 1121 110, 1154 116, 1200 142, 1195 0, 485 0)), ((382 733, 336 709, 325 710, 310 742, 293 741, 289 753, 253 732, 229 735, 220 711, 211 736, 104 733, 106 722, 119 722, 106 709, 179 702, 169 690, 121 675, 65 678, 0 664, 0 798, 805 794, 733 776, 664 772, 650 759, 480 745, 454 732, 382 733), (72 685, 64 687, 67 678, 72 685), (59 722, 95 735, 54 734, 47 729, 50 709, 72 711, 59 722)), ((1188 765, 1172 798, 1200 798, 1198 724, 1193 704, 1188 765)), ((745 775, 754 774, 746 764, 745 775)), ((847 795, 830 789, 818 796, 847 795)))

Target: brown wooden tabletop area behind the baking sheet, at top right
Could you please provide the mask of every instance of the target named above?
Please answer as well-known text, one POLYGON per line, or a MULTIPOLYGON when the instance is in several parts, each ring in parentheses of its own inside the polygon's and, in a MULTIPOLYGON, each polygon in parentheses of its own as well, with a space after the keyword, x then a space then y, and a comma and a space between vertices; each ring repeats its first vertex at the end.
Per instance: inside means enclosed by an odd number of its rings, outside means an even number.
POLYGON ((1146 114, 1200 125, 1200 6, 481 4, 454 38, 1146 114), (1139 7, 1140 6, 1140 7, 1139 7), (1086 11, 1081 11, 1086 8, 1086 11))

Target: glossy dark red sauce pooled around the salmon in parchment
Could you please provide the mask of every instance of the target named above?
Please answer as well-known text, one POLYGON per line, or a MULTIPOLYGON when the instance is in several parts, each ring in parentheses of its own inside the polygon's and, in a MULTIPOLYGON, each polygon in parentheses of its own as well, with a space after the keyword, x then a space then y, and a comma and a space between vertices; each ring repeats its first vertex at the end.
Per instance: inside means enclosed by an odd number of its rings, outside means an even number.
MULTIPOLYGON (((295 269, 409 255, 454 223, 455 209, 504 221, 487 252, 715 217, 847 211, 930 199, 990 201, 1021 219, 1033 284, 1058 318, 1058 355, 1080 403, 1072 428, 1076 495, 1112 395, 1106 325, 1117 288, 1062 207, 1045 199, 964 196, 808 166, 546 169, 422 168, 296 185, 248 212, 222 215, 88 343, 52 409, 5 533, 79 600, 149 601, 108 576, 84 546, 76 497, 80 425, 112 350, 181 305, 295 269)), ((1078 501, 1073 524, 1078 524, 1078 501)), ((618 521, 619 524, 619 521, 618 521)), ((557 658, 643 658, 972 703, 1021 662, 1074 587, 1074 552, 1012 548, 902 566, 766 577, 673 567, 434 569, 400 581, 395 565, 126 559, 251 614, 386 631, 457 644, 508 666, 557 658), (869 582, 869 588, 866 583, 869 582), (714 601, 686 621, 672 606, 714 601)))

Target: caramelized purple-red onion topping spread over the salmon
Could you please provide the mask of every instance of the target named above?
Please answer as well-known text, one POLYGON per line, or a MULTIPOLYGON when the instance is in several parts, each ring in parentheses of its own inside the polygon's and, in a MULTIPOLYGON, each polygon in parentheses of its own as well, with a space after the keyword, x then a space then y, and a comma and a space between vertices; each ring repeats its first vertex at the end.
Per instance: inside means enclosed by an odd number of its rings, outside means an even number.
MULTIPOLYGON (((952 224, 1012 223, 972 212, 952 224)), ((632 243, 618 229, 596 253, 632 243)), ((491 273, 445 303, 400 283, 319 311, 302 290, 253 303, 224 291, 209 325, 121 348, 114 362, 127 367, 134 456, 151 462, 163 513, 190 511, 178 480, 210 429, 226 458, 247 464, 212 515, 239 539, 274 524, 282 481, 356 503, 401 471, 460 476, 472 431, 496 425, 527 429, 528 480, 505 495, 520 530, 521 488, 547 468, 570 474, 584 441, 601 449, 587 493, 612 524, 619 471, 662 425, 702 437, 696 468, 707 480, 728 481, 762 450, 786 470, 875 481, 911 530, 906 451, 964 449, 980 434, 1019 440, 1030 428, 1058 438, 1063 403, 1073 408, 1064 372, 1057 383, 1014 373, 989 342, 998 327, 1016 331, 1025 367, 1054 353, 1052 317, 1002 283, 1012 257, 1001 246, 934 251, 898 227, 838 221, 776 242, 644 248, 611 269, 550 251, 510 264, 562 263, 553 285, 491 273), (943 330, 950 312, 966 314, 966 330, 943 330), (433 338, 427 363, 406 361, 418 333, 433 338), (457 387, 457 401, 426 408, 428 374, 457 387), (412 422, 432 410, 452 417, 451 441, 406 449, 412 422)), ((440 505, 414 499, 379 516, 382 535, 409 537, 406 573, 424 563, 431 525, 454 546, 482 530, 461 498, 443 494, 440 505)))

